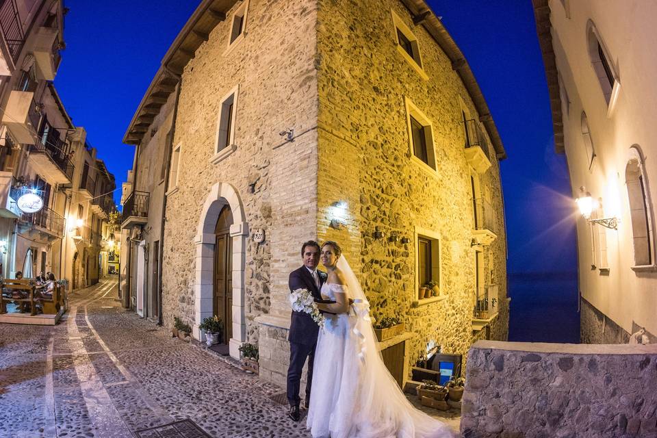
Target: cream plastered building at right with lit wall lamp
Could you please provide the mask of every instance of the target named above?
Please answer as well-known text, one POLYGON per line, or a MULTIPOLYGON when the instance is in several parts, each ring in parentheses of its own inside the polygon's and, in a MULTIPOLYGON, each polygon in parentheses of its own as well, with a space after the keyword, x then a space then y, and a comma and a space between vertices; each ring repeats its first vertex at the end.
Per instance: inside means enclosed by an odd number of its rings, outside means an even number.
POLYGON ((565 153, 577 222, 581 340, 656 341, 657 263, 648 157, 657 4, 534 0, 556 153, 565 153), (628 38, 634 35, 636 38, 628 38))

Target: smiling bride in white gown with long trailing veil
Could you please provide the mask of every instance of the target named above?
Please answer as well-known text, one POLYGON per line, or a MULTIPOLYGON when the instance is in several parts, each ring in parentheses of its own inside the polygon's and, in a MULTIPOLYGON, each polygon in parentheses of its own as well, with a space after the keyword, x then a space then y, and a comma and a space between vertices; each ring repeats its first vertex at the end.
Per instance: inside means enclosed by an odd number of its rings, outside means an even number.
POLYGON ((320 253, 329 278, 320 304, 320 330, 307 428, 313 438, 447 438, 451 430, 413 408, 389 374, 378 351, 369 304, 335 242, 320 253), (349 305, 349 299, 354 300, 349 305))

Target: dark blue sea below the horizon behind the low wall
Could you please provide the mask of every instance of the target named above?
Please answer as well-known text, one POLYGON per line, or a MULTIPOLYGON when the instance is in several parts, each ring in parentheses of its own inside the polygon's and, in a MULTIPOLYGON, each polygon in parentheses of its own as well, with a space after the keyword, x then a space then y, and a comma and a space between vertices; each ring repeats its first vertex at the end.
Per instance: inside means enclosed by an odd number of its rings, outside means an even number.
POLYGON ((577 272, 508 274, 508 340, 579 344, 577 272))

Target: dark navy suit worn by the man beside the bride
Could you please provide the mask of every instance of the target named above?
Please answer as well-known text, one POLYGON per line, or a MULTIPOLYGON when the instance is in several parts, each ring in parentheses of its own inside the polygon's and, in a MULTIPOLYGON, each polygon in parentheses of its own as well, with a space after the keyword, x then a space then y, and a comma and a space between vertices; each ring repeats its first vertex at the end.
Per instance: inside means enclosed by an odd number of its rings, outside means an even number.
MULTIPOLYGON (((326 281, 326 274, 317 271, 320 279, 320 287, 326 281)), ((316 300, 322 298, 320 287, 315 285, 315 280, 305 266, 289 274, 289 291, 294 289, 308 289, 316 300)), ((315 346, 320 327, 311 315, 292 311, 289 324, 289 368, 287 369, 287 400, 291 406, 298 406, 300 402, 299 389, 301 385, 301 371, 303 364, 308 358, 308 381, 306 383, 306 399, 310 398, 310 388, 313 381, 313 359, 315 359, 315 346)))

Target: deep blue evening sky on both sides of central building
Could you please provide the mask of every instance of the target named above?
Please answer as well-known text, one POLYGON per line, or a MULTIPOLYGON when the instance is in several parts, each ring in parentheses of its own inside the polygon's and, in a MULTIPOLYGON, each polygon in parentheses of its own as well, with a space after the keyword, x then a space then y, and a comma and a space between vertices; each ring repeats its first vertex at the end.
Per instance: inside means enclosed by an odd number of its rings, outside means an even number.
MULTIPOLYGON (((545 72, 529 0, 428 0, 465 54, 502 136, 509 272, 576 270, 565 157, 554 153, 545 72)), ((66 0, 66 50, 55 85, 117 183, 121 143, 164 53, 196 0, 66 0)), ((120 190, 114 196, 118 202, 120 190)))

